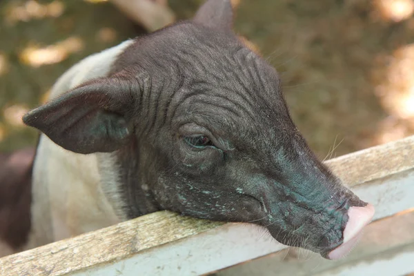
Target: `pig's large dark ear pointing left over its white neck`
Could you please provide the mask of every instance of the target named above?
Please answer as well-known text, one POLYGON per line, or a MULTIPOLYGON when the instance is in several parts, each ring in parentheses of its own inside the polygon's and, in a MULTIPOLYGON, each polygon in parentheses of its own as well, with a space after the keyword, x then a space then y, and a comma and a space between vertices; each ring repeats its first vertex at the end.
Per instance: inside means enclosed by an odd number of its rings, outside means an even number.
POLYGON ((126 117, 133 101, 131 85, 99 79, 75 88, 23 116, 66 150, 112 152, 126 144, 132 129, 126 117))

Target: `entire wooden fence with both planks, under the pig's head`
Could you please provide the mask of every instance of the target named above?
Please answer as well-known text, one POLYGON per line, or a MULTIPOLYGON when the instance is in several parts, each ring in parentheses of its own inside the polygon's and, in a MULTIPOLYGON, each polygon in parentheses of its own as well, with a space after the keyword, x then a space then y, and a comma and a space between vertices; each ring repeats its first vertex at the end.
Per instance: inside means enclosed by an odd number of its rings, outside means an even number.
POLYGON ((354 193, 376 208, 375 221, 343 260, 328 261, 313 254, 311 259, 292 258, 286 246, 274 242, 257 226, 224 224, 161 211, 3 257, 0 275, 414 272, 414 137, 344 155, 326 164, 354 193), (258 257, 261 258, 255 259, 258 257))

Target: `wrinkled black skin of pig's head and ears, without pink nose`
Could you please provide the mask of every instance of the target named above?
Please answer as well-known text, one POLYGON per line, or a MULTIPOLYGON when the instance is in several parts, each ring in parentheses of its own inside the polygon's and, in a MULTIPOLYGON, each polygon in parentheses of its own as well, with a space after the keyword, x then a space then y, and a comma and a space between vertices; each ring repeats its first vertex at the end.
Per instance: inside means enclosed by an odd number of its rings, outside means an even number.
POLYGON ((311 152, 277 72, 231 30, 230 1, 139 37, 110 75, 23 121, 81 154, 115 152, 128 217, 157 210, 253 222, 326 257, 366 206, 311 152))

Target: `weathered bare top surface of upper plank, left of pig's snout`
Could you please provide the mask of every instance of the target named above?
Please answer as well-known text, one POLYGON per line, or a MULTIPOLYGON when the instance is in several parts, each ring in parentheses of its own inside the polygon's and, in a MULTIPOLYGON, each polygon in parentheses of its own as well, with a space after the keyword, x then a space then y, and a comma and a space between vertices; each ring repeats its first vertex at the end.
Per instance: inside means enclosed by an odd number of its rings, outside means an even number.
POLYGON ((167 211, 0 259, 0 275, 65 275, 203 233, 220 223, 167 211))

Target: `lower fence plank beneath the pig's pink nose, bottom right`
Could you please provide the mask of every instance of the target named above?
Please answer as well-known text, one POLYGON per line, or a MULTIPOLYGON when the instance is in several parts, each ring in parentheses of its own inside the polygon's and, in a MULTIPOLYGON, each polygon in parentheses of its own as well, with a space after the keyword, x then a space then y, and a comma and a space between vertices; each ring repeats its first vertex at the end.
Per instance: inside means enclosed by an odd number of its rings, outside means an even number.
POLYGON ((338 261, 296 248, 218 271, 216 276, 400 276, 414 272, 414 211, 375 221, 358 246, 338 261))

